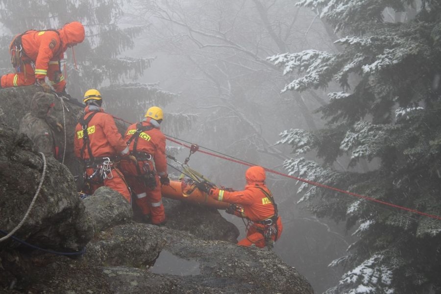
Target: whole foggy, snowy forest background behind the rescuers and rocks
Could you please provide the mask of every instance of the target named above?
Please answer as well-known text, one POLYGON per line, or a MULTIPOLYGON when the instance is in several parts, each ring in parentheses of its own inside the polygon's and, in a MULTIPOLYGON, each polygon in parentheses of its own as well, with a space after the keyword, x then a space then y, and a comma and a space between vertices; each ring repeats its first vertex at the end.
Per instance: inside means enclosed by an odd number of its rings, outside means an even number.
MULTIPOLYGON (((274 250, 316 293, 441 293, 439 0, 0 3, 1 73, 14 34, 80 21, 63 67, 74 98, 97 88, 129 122, 158 105, 169 136, 438 216, 268 173, 274 250)), ((244 165, 200 152, 189 165, 245 184, 244 165)))

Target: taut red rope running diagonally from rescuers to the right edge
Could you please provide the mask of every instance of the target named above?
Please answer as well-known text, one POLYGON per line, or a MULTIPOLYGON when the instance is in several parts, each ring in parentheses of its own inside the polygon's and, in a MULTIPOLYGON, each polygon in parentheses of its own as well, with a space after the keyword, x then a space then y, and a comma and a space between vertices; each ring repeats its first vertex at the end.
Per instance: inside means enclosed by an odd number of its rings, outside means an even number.
MULTIPOLYGON (((117 119, 117 120, 123 121, 124 123, 129 123, 129 122, 124 121, 123 119, 120 119, 120 118, 117 118, 117 117, 114 117, 114 118, 117 119)), ((132 123, 129 123, 129 124, 132 124, 132 123)), ((171 138, 169 138, 167 136, 166 136, 166 138, 167 138, 167 140, 169 140, 169 141, 171 141, 173 143, 176 143, 178 145, 181 145, 183 147, 187 147, 187 148, 191 149, 191 146, 185 145, 185 144, 183 144, 181 142, 178 142, 176 140, 173 140, 173 139, 171 139, 171 138)), ((249 166, 249 167, 254 166, 254 164, 251 164, 251 163, 248 163, 248 162, 245 162, 245 161, 242 161, 242 160, 228 158, 228 157, 225 157, 225 156, 221 156, 221 155, 214 154, 214 153, 211 153, 211 152, 208 152, 208 151, 204 151, 204 150, 200 150, 200 149, 198 149, 198 151, 201 152, 201 153, 207 154, 207 155, 211 155, 211 156, 214 156, 214 157, 219 157, 221 159, 225 159, 225 160, 228 160, 228 161, 239 163, 239 164, 242 164, 242 165, 245 165, 245 166, 249 166)), ((338 188, 335 188, 335 187, 323 185, 323 184, 320 184, 320 183, 317 183, 317 182, 314 182, 314 181, 306 180, 306 179, 299 178, 299 177, 296 177, 296 176, 293 176, 293 175, 289 175, 289 174, 286 174, 286 173, 277 172, 277 171, 274 171, 274 170, 271 170, 271 169, 268 169, 268 168, 265 168, 265 167, 264 167, 264 170, 267 171, 267 172, 271 172, 271 173, 275 173, 275 174, 284 176, 284 177, 292 178, 294 180, 297 180, 297 181, 300 181, 300 182, 304 182, 304 183, 307 183, 307 184, 310 184, 310 185, 313 185, 313 186, 316 186, 316 187, 325 188, 325 189, 333 190, 333 191, 340 192, 340 193, 343 193, 343 194, 359 197, 359 198, 362 198, 362 199, 366 199, 366 200, 369 200, 369 201, 373 201, 373 202, 377 202, 377 203, 380 203, 380 204, 388 205, 388 206, 391 206, 391 207, 394 207, 394 208, 406 210, 406 211, 409 211, 409 212, 413 212, 413 213, 416 213, 416 214, 419 214, 419 215, 422 215, 422 216, 425 216, 425 217, 429 217, 429 218, 441 221, 441 217, 440 216, 431 215, 431 214, 428 214, 428 213, 425 213, 425 212, 421 212, 421 211, 418 211, 418 210, 415 210, 415 209, 411 209, 411 208, 407 208, 407 207, 404 207, 404 206, 396 205, 396 204, 389 203, 389 202, 386 202, 386 201, 378 200, 378 199, 375 199, 375 198, 372 198, 372 197, 363 196, 363 195, 360 195, 360 194, 357 194, 357 193, 352 193, 352 192, 345 191, 345 190, 342 190, 342 189, 338 189, 338 188)))

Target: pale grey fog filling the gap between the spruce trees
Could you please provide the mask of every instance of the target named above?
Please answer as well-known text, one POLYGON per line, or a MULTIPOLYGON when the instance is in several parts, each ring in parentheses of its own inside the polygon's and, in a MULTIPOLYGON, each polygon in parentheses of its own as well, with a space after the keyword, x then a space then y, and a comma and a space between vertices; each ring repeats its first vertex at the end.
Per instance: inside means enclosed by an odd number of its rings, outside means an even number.
MULTIPOLYGON (((134 6, 143 6, 138 5, 134 6)), ((285 51, 337 49, 334 36, 310 10, 295 7, 294 1, 274 1, 268 10, 260 5, 259 1, 187 1, 179 7, 170 2, 162 6, 167 12, 147 14, 128 7, 124 25, 151 25, 136 39, 135 48, 124 54, 154 56, 140 80, 179 94, 163 108, 166 134, 286 173, 282 165, 291 148, 275 145, 279 133, 321 126, 313 110, 327 98, 321 90, 282 94, 288 79, 266 58, 285 51), (266 21, 274 26, 277 38, 266 31, 266 21), (195 115, 191 128, 173 133, 167 117, 176 113, 195 115)), ((177 145, 169 142, 169 146, 177 145)), ((188 155, 189 149, 183 149, 176 158, 183 162, 188 155)), ((189 165, 219 186, 244 188, 245 165, 200 152, 191 156, 189 165)), ((295 180, 271 173, 267 177, 284 224, 274 251, 305 275, 316 293, 322 293, 341 277, 343 269, 328 265, 344 255, 352 237, 342 225, 300 209, 295 180)), ((243 221, 223 215, 238 226, 243 238, 243 221)))

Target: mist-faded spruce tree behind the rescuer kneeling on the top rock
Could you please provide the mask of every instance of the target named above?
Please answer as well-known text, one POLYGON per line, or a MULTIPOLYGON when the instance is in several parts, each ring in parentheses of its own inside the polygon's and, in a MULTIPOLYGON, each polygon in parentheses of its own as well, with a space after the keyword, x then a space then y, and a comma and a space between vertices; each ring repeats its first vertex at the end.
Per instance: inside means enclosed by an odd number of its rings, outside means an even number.
POLYGON ((122 56, 125 50, 134 47, 136 38, 148 26, 119 25, 123 5, 128 2, 0 0, 0 22, 4 31, 5 28, 9 29, 9 33, 0 37, 1 71, 6 73, 13 70, 8 50, 13 35, 28 29, 59 28, 65 23, 79 21, 85 27, 86 39, 74 47, 74 55, 70 49, 66 51, 62 67, 69 94, 81 100, 84 91, 98 88, 105 92, 107 111, 113 113, 118 110, 120 113, 135 113, 136 116, 140 116, 151 103, 166 105, 173 94, 158 89, 156 85, 136 83, 150 67, 153 58, 122 56), (129 91, 115 91, 122 88, 129 91), (119 103, 114 105, 114 101, 119 103))

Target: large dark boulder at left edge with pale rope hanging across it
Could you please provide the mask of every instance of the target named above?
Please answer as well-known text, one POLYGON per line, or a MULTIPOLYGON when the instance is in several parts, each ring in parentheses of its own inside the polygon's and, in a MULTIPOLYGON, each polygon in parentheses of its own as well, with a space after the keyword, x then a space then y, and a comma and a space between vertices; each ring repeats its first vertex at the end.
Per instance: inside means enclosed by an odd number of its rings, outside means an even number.
MULTIPOLYGON (((75 193, 71 172, 53 158, 44 158, 27 136, 0 124, 0 228, 12 231, 25 217, 37 188, 40 193, 15 236, 52 249, 78 250, 93 236, 92 220, 75 193)), ((11 241, 0 248, 17 246, 11 241)))

